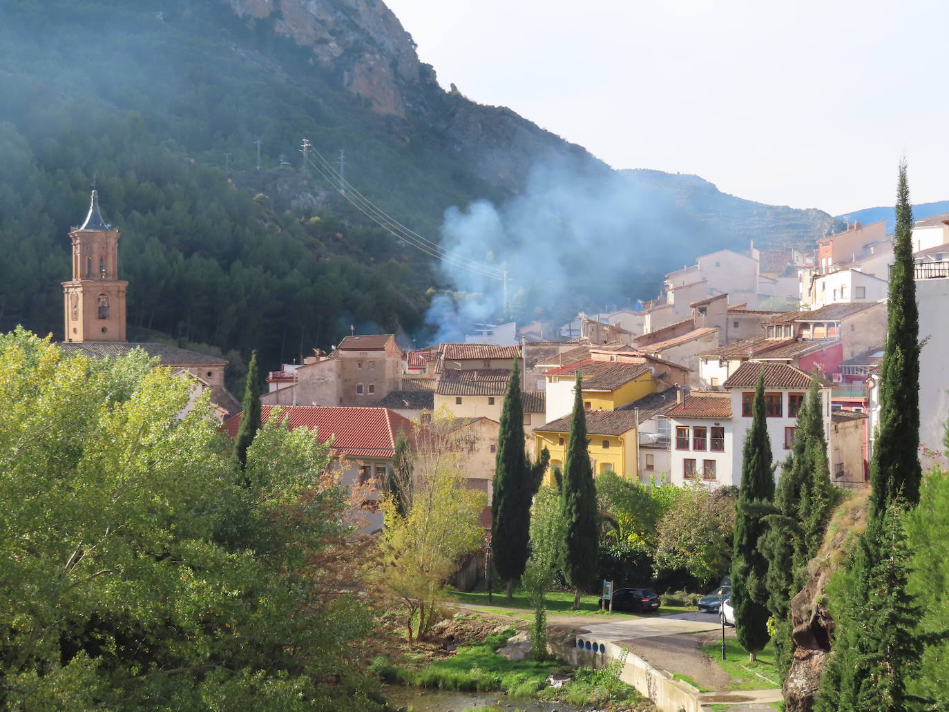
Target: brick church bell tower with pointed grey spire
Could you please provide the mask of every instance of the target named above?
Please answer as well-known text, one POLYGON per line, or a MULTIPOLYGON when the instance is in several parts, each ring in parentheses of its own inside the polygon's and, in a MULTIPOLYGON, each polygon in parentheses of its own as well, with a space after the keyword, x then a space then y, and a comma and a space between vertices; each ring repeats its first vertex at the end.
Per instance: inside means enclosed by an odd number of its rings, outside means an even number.
POLYGON ((99 194, 82 227, 73 228, 72 280, 63 283, 64 342, 124 342, 125 289, 119 279, 119 231, 102 219, 99 194))

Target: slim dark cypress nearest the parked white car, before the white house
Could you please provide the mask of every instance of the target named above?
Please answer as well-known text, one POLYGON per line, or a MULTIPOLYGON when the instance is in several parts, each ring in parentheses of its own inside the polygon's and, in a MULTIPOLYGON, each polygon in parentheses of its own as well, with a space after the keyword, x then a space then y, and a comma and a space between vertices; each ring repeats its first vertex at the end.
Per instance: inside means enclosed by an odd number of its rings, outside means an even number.
POLYGON ((764 366, 754 390, 752 427, 745 437, 741 461, 741 486, 735 513, 735 552, 732 556, 732 606, 735 633, 754 662, 758 650, 768 644, 765 577, 768 560, 761 550, 768 531, 761 510, 774 499, 771 440, 765 421, 764 366))

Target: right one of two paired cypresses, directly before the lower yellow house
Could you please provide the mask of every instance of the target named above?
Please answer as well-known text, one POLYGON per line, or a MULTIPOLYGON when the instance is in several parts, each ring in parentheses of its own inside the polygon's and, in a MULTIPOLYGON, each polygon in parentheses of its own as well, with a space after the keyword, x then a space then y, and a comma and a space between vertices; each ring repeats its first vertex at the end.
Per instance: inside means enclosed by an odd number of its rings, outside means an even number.
POLYGON ((573 609, 580 608, 584 590, 592 590, 597 581, 597 555, 600 527, 597 522, 596 486, 586 442, 586 412, 580 371, 574 386, 573 417, 567 457, 564 459, 561 506, 565 532, 562 555, 564 576, 575 590, 573 609))

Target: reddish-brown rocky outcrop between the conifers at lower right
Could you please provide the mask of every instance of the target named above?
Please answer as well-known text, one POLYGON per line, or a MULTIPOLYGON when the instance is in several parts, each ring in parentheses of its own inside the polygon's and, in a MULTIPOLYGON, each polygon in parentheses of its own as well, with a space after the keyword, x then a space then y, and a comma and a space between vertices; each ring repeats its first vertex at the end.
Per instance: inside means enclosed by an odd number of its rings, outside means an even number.
POLYGON ((786 712, 810 712, 830 653, 834 621, 827 604, 828 580, 846 556, 847 539, 866 526, 866 494, 852 495, 828 524, 821 551, 811 560, 804 589, 791 600, 794 659, 784 681, 786 712))

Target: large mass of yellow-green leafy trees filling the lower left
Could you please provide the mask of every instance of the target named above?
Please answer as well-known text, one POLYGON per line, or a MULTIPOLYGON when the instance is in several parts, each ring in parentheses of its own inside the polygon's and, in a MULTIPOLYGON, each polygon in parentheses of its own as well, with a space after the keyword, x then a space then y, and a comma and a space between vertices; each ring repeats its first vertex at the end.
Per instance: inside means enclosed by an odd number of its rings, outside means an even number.
POLYGON ((67 358, 18 330, 0 374, 0 704, 378 707, 355 665, 369 617, 327 564, 348 555, 345 493, 312 434, 268 423, 245 488, 207 399, 180 416, 191 384, 141 351, 67 358))

